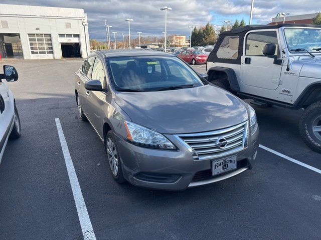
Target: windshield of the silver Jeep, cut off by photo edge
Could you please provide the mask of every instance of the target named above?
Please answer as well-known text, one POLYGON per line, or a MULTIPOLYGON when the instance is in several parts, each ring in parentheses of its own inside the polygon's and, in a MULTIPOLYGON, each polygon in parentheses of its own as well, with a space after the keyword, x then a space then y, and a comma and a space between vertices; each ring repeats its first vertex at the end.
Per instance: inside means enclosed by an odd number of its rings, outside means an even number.
POLYGON ((298 48, 310 52, 319 52, 316 49, 321 48, 321 28, 285 28, 284 34, 287 47, 292 53, 298 48))

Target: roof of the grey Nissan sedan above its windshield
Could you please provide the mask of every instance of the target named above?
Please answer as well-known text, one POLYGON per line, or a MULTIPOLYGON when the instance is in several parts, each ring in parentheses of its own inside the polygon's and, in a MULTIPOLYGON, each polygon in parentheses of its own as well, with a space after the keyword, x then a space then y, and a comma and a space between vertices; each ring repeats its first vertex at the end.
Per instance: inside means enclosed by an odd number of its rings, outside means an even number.
POLYGON ((164 51, 144 50, 141 49, 118 49, 118 50, 103 50, 93 52, 103 57, 119 57, 119 56, 173 56, 171 53, 164 51))

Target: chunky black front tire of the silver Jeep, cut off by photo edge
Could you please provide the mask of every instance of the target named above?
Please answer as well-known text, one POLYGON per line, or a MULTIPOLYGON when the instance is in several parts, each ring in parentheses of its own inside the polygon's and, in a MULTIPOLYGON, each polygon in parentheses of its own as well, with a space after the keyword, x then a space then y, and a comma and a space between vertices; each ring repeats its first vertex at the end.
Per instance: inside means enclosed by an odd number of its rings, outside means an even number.
POLYGON ((321 101, 312 103, 304 110, 299 131, 306 145, 321 153, 321 101))

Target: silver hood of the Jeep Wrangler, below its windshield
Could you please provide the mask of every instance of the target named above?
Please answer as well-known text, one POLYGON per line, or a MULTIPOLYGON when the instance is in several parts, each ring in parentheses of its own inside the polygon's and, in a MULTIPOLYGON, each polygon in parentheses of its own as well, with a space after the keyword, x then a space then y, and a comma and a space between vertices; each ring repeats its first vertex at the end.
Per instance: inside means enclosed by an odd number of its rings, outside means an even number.
POLYGON ((300 66, 300 76, 321 78, 321 57, 301 57, 293 62, 293 65, 300 66))

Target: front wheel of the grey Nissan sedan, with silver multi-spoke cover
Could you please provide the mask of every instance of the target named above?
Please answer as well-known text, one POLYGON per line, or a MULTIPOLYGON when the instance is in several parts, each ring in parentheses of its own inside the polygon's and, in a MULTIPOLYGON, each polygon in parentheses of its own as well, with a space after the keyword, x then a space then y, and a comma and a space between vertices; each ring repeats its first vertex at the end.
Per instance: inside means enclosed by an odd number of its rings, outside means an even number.
POLYGON ((112 130, 108 131, 105 137, 105 151, 107 154, 107 160, 110 166, 111 175, 116 182, 123 183, 126 182, 126 179, 123 175, 122 165, 118 153, 119 151, 115 142, 116 141, 114 133, 112 132, 112 130))

